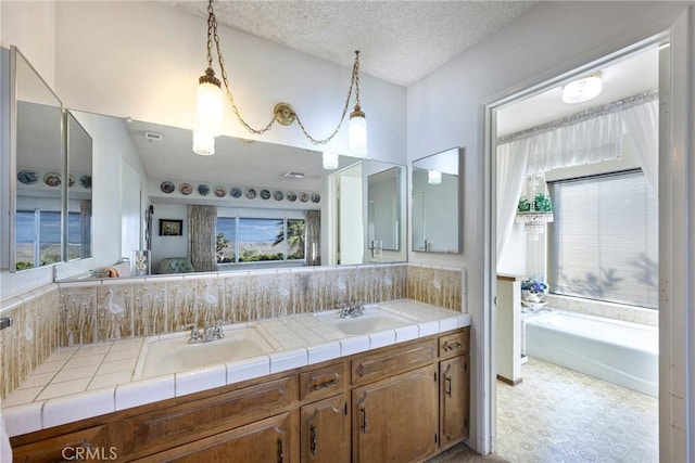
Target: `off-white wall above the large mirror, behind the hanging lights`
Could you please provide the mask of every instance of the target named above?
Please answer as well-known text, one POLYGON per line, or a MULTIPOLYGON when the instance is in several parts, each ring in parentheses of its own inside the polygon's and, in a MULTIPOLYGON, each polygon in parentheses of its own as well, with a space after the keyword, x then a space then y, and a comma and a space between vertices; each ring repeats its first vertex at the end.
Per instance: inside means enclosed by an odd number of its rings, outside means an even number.
MULTIPOLYGON (((71 107, 193 128, 198 77, 206 67, 205 18, 161 2, 124 7, 119 1, 58 2, 58 93, 71 107)), ((231 90, 252 126, 265 126, 275 104, 286 101, 314 137, 332 132, 350 68, 224 26, 219 39, 231 90)), ((405 89, 362 75, 361 100, 369 156, 405 164, 405 89)), ((232 119, 230 110, 226 116, 226 134, 257 138, 232 119)), ((274 127, 263 139, 313 147, 296 125, 274 127)), ((326 147, 348 154, 346 130, 326 147)))

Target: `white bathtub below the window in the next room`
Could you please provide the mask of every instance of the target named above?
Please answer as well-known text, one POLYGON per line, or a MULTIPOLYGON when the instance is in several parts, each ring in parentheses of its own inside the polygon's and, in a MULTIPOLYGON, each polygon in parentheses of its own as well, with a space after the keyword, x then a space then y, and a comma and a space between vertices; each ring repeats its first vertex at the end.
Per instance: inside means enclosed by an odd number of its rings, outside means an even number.
POLYGON ((658 396, 657 327, 555 310, 525 323, 528 356, 658 396))

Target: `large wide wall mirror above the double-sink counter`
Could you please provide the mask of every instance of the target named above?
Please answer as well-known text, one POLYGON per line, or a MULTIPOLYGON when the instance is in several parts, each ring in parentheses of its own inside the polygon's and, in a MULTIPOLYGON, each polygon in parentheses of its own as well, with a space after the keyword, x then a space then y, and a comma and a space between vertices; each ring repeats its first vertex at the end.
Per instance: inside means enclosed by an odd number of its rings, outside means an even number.
MULTIPOLYGON (((94 178, 102 179, 94 189, 123 188, 119 204, 109 204, 112 213, 119 206, 118 220, 94 216, 94 233, 99 235, 94 243, 115 244, 109 249, 91 249, 104 262, 97 270, 128 257, 129 271, 119 273, 137 275, 136 256, 146 252, 149 262, 140 274, 201 271, 189 252, 189 206, 212 206, 216 210, 217 271, 346 263, 331 262, 327 257, 334 244, 330 218, 338 214, 328 184, 334 172, 351 166, 359 166, 364 172, 362 200, 356 205, 364 220, 346 223, 350 234, 362 236, 355 253, 358 257, 350 263, 406 260, 404 246, 400 245, 405 240, 401 220, 405 214, 404 166, 341 155, 339 167, 327 170, 318 151, 232 137, 218 137, 215 154, 200 156, 192 152, 191 130, 73 113, 92 139, 94 158, 114 162, 119 157, 118 164, 109 169, 121 169, 119 181, 109 172, 93 172, 94 178), (372 256, 366 245, 368 198, 379 208, 379 221, 372 222, 371 229, 384 243, 380 256, 372 256), (394 202, 399 202, 395 209, 394 202), (389 220, 392 222, 387 223, 389 220), (115 231, 118 236, 113 235, 115 231), (108 259, 106 253, 111 256, 108 259)), ((88 141, 85 139, 86 144, 88 141)), ((84 175, 74 172, 76 181, 84 175)), ((96 208, 103 206, 96 204, 96 208)), ((85 211, 81 200, 71 207, 76 217, 85 211)))

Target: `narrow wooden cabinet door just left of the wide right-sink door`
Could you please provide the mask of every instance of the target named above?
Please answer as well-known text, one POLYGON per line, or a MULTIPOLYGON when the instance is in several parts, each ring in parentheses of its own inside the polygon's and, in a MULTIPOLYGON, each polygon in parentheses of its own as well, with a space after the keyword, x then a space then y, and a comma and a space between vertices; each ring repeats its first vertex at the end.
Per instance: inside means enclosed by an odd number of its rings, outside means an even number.
POLYGON ((343 394, 302 407, 301 421, 303 463, 350 461, 350 415, 343 394))

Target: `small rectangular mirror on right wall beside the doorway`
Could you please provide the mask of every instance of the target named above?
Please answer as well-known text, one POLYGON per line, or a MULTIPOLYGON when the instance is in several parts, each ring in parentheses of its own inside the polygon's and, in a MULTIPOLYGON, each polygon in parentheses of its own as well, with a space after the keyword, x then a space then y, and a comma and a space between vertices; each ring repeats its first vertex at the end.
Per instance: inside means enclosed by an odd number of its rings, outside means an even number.
POLYGON ((460 252, 462 149, 413 162, 413 250, 460 252))

